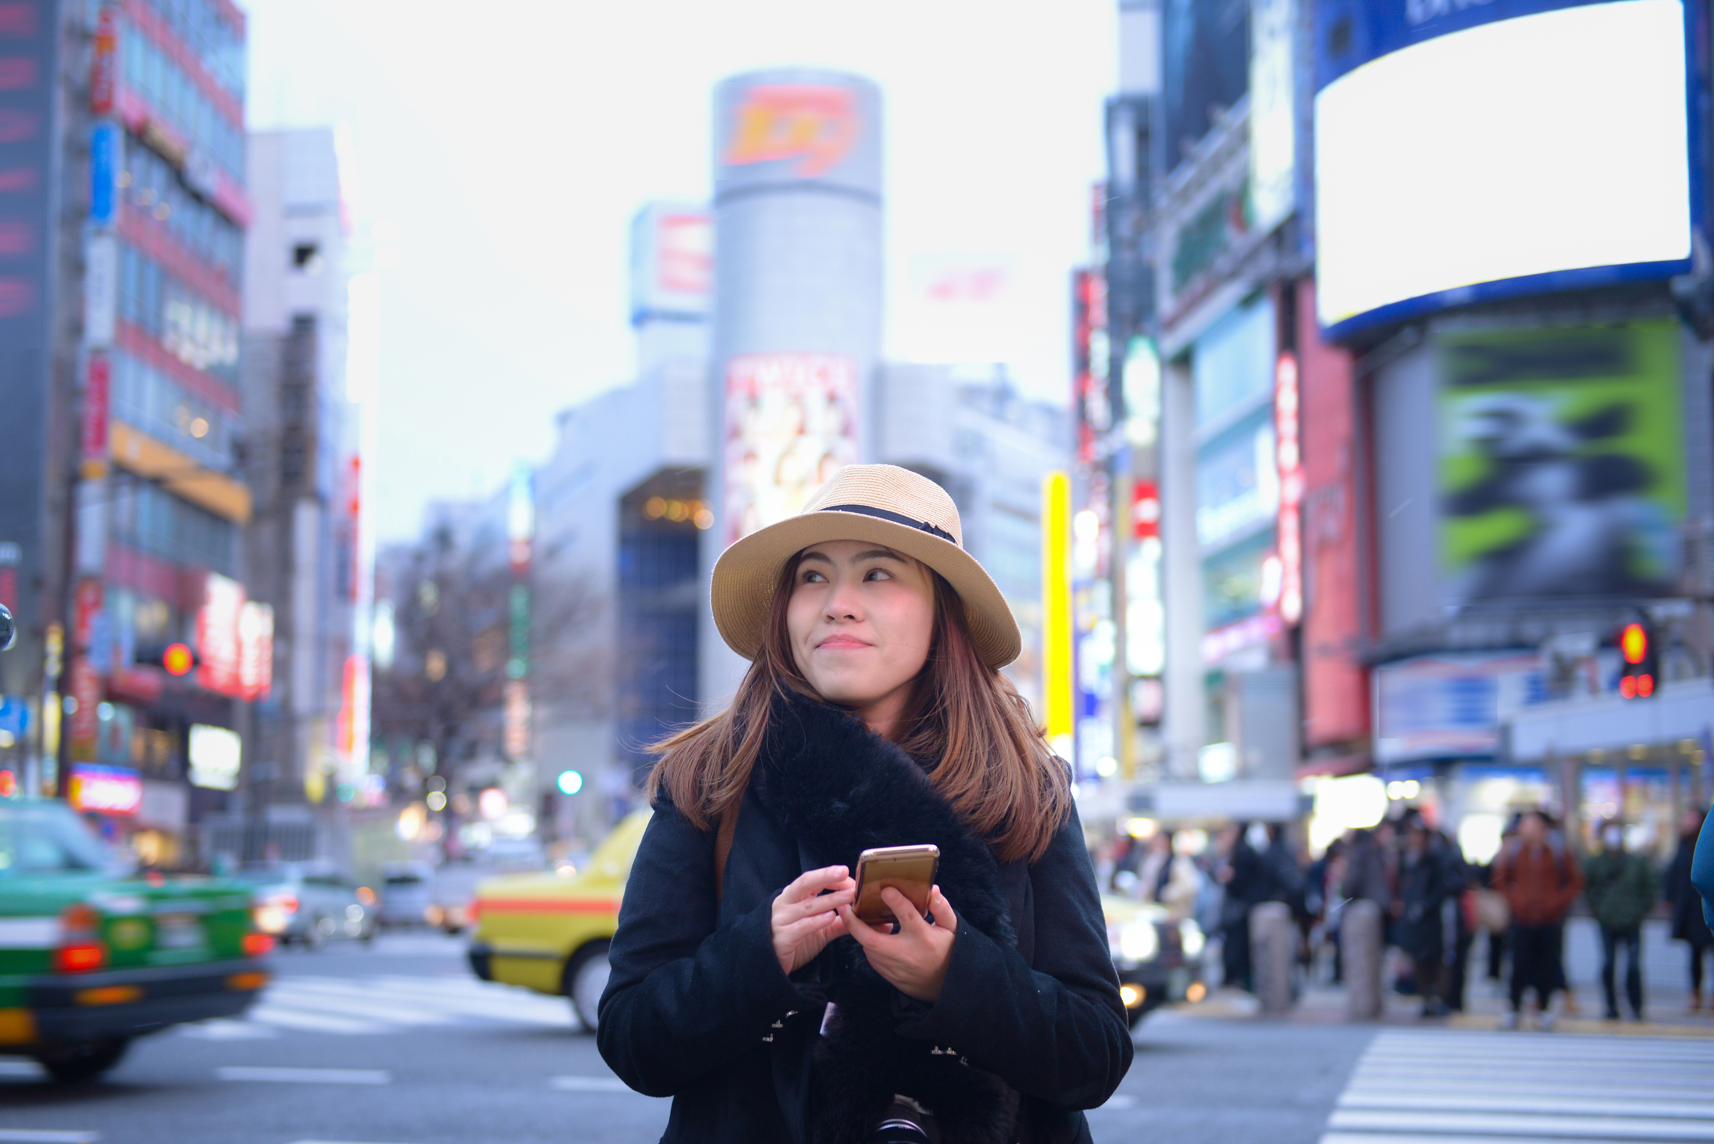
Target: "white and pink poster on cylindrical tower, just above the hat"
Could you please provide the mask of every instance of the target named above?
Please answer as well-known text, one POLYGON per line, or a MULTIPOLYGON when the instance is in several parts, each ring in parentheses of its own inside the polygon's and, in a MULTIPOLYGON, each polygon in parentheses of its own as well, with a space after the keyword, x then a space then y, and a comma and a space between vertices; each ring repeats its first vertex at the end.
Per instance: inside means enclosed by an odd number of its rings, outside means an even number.
POLYGON ((857 461, 857 363, 842 355, 727 361, 727 545, 794 515, 857 461))

